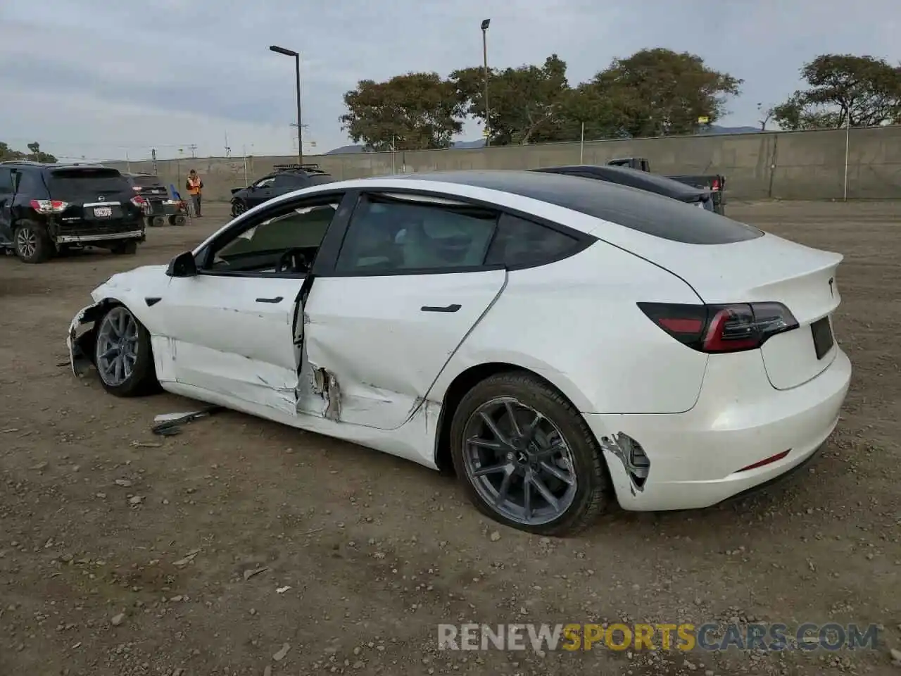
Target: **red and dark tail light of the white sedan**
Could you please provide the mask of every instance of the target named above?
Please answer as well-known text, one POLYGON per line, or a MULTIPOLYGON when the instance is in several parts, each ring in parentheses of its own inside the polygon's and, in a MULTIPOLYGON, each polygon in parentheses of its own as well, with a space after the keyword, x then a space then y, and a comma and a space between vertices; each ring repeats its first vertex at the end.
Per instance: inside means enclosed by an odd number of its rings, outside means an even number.
POLYGON ((698 352, 756 350, 777 333, 791 331, 798 325, 795 315, 781 303, 638 306, 654 324, 698 352))

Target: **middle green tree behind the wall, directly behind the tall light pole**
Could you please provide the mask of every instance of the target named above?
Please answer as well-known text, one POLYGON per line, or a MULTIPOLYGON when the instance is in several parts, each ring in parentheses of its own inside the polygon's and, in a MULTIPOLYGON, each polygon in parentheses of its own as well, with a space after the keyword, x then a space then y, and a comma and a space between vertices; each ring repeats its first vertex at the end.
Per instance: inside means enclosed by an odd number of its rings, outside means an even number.
MULTIPOLYGON (((466 114, 485 119, 482 67, 455 70, 450 81, 466 114)), ((556 54, 539 66, 488 71, 487 129, 492 145, 564 140, 560 113, 569 96, 566 61, 556 54)), ((568 139, 567 139, 568 140, 568 139)))

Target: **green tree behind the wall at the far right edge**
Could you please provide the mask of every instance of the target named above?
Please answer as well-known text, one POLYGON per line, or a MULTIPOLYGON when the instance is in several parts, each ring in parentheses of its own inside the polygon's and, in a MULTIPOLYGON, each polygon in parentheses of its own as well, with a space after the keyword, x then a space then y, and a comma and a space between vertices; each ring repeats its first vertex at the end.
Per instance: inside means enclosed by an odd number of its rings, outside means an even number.
POLYGON ((808 87, 773 109, 782 129, 837 129, 901 121, 901 69, 884 59, 822 54, 805 63, 808 87))

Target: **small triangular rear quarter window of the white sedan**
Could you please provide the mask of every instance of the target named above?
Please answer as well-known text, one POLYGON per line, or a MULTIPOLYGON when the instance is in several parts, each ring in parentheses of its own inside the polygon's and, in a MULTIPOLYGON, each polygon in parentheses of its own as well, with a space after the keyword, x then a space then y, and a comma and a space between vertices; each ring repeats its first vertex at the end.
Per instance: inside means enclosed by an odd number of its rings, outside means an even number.
POLYGON ((505 214, 485 259, 486 265, 540 265, 575 250, 578 240, 545 225, 505 214))

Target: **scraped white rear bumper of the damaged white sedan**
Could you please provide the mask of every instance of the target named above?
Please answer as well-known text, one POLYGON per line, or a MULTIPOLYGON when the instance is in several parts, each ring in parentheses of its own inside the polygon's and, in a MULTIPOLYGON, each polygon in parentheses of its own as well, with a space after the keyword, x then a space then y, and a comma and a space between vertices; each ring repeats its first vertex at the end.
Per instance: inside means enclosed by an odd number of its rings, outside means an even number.
POLYGON ((627 434, 650 461, 637 486, 620 455, 605 446, 616 497, 624 509, 709 507, 778 478, 807 461, 832 434, 851 382, 841 350, 815 379, 772 388, 760 352, 718 355, 708 362, 694 408, 674 415, 585 415, 598 440, 627 434), (721 359, 726 357, 725 360, 721 359), (742 381, 735 381, 735 373, 742 381), (742 470, 781 452, 784 458, 742 470))

